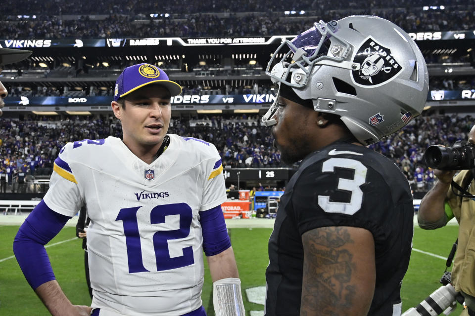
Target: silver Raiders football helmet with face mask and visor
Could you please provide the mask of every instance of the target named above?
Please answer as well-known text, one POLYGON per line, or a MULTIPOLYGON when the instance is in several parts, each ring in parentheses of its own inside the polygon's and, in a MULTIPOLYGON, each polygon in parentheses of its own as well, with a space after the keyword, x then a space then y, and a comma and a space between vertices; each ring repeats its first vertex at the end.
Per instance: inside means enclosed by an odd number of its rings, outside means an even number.
MULTIPOLYGON (((315 111, 340 116, 365 145, 409 123, 427 100, 427 66, 419 47, 397 25, 376 16, 315 23, 279 46, 266 74, 299 98, 312 99, 315 111), (285 45, 290 50, 277 60, 285 45)), ((276 110, 277 100, 262 117, 265 125, 276 123, 276 110)))

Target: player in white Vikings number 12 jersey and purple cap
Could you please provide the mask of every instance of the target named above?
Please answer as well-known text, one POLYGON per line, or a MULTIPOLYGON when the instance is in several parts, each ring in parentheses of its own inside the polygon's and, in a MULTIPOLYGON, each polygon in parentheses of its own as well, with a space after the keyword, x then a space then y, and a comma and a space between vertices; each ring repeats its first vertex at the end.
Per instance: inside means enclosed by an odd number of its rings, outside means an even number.
POLYGON ((126 68, 112 102, 123 139, 68 143, 54 161, 50 188, 13 244, 52 315, 205 316, 203 250, 216 314, 244 315, 220 206, 226 193, 218 151, 200 139, 167 135, 171 97, 181 90, 153 65, 126 68), (83 205, 91 218, 91 307, 66 298, 44 248, 83 205), (231 292, 236 300, 229 301, 231 292))

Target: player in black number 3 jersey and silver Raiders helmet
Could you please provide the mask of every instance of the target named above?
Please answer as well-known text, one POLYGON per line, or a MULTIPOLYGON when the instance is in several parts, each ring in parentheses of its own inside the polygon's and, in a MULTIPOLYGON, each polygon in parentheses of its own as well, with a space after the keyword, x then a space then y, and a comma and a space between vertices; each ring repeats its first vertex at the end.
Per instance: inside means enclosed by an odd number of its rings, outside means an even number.
POLYGON ((350 16, 283 42, 266 73, 279 92, 262 121, 284 161, 302 161, 269 240, 264 314, 401 315, 413 199, 397 166, 365 146, 422 112, 421 51, 387 20, 350 16))

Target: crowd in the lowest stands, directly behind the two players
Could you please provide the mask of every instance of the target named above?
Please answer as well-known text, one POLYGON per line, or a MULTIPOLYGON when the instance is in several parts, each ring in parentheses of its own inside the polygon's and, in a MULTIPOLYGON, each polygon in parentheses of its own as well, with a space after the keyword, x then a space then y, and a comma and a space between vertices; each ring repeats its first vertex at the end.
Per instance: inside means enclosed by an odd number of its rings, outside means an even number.
MULTIPOLYGON (((54 159, 67 142, 121 137, 120 122, 112 115, 57 118, 29 115, 22 120, 0 120, 0 172, 7 173, 10 186, 12 180, 24 180, 18 179, 18 173, 49 175, 54 159)), ((423 115, 371 147, 393 159, 416 191, 424 191, 434 181, 433 170, 423 161, 427 146, 451 146, 456 140, 466 140, 473 121, 472 116, 423 115)), ((270 129, 257 115, 172 117, 169 132, 215 144, 224 168, 285 166, 272 146, 270 129)), ((15 187, 11 189, 15 191, 15 187)))

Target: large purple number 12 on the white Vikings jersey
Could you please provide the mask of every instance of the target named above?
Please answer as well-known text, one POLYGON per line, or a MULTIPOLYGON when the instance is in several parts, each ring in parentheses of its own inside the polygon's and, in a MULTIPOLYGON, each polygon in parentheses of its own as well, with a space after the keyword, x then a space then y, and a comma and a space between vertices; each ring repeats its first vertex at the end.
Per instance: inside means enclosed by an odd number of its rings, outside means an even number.
MULTIPOLYGON (((137 211, 142 206, 122 208, 116 221, 122 221, 124 226, 125 242, 127 245, 127 259, 129 273, 147 272, 142 261, 142 247, 140 242, 137 211)), ((192 211, 186 203, 176 203, 155 206, 150 212, 150 224, 165 223, 165 216, 179 215, 180 228, 174 231, 158 231, 153 234, 153 247, 157 271, 171 270, 189 266, 194 263, 193 247, 183 248, 183 256, 171 258, 168 250, 168 240, 185 238, 190 235, 192 211)))

